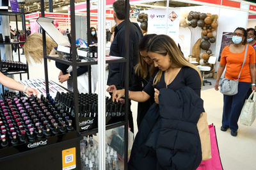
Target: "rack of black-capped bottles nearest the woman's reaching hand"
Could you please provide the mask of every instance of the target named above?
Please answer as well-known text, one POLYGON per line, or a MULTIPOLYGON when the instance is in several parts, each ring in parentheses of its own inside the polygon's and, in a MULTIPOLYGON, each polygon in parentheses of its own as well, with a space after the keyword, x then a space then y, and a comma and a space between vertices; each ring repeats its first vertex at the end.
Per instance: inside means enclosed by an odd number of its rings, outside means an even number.
MULTIPOLYGON (((65 107, 65 111, 74 115, 74 97, 73 93, 58 92, 55 97, 56 102, 59 102, 65 107)), ((84 94, 78 95, 79 102, 79 130, 91 130, 98 127, 98 95, 84 94)), ((106 125, 124 121, 124 104, 120 102, 112 102, 109 97, 106 97, 106 125)))

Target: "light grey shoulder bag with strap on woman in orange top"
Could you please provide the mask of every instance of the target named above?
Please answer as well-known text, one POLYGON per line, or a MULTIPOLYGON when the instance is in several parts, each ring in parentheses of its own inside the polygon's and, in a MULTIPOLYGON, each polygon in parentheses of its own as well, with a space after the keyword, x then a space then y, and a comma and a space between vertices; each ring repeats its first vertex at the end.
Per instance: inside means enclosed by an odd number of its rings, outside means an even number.
MULTIPOLYGON (((242 68, 244 66, 245 60, 246 60, 246 54, 247 54, 248 45, 246 45, 245 53, 244 53, 244 62, 242 65, 242 68)), ((242 68, 240 70, 240 73, 237 77, 237 80, 230 80, 227 78, 221 79, 220 81, 220 93, 223 93, 223 95, 236 95, 237 94, 237 88, 239 83, 239 78, 242 72, 242 68)))

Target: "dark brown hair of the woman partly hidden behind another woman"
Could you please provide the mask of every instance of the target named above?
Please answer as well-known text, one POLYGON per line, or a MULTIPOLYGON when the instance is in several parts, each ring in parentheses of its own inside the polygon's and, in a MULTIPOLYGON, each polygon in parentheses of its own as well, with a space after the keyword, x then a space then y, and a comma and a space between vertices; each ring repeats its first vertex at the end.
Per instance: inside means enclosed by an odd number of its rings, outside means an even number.
MULTIPOLYGON (((141 38, 140 43, 139 43, 139 52, 143 51, 143 50, 147 50, 147 47, 150 43, 150 40, 152 40, 152 38, 156 36, 156 34, 152 34, 152 35, 145 35, 141 38)), ((153 73, 155 72, 156 68, 154 67, 154 64, 150 66, 149 69, 149 76, 151 77, 153 75, 153 73)), ((142 77, 143 79, 145 79, 148 75, 148 64, 144 61, 143 56, 141 56, 141 54, 139 54, 139 62, 138 64, 135 66, 135 73, 137 75, 139 75, 140 77, 142 77)))

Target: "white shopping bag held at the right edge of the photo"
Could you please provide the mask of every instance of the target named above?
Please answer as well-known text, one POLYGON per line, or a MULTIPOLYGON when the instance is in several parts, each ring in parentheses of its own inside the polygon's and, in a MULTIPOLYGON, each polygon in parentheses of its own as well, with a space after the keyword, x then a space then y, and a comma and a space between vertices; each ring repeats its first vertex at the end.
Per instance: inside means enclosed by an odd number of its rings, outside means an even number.
POLYGON ((244 102, 243 109, 240 115, 240 123, 242 125, 250 126, 255 120, 255 91, 252 92, 250 97, 244 102))

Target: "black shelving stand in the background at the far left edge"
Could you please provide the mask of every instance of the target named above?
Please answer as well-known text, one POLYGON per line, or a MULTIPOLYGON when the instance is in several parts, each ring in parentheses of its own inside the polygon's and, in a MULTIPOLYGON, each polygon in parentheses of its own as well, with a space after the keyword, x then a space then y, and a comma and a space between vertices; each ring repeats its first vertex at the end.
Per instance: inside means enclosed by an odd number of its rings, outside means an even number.
MULTIPOLYGON (((17 28, 17 42, 10 42, 10 43, 0 43, 0 45, 20 45, 22 43, 26 42, 27 39, 27 33, 26 33, 26 22, 22 22, 22 25, 25 27, 25 42, 20 42, 19 41, 19 28, 18 28, 18 15, 22 15, 22 17, 25 18, 25 14, 24 13, 13 13, 13 12, 1 12, 0 11, 0 15, 7 15, 7 16, 15 16, 15 21, 16 21, 16 28, 17 28)), ((19 62, 20 62, 20 49, 18 47, 18 56, 19 56, 19 62)), ((12 56, 12 61, 13 61, 13 56, 12 56)), ((27 64, 27 70, 26 71, 19 71, 19 72, 5 72, 4 75, 13 75, 13 74, 19 74, 20 75, 20 81, 22 80, 22 73, 26 73, 29 79, 29 70, 28 70, 28 62, 27 64)), ((2 72, 2 58, 1 58, 1 51, 0 51, 0 71, 2 72)), ((3 92, 4 92, 4 86, 2 84, 2 88, 3 88, 3 92)))

